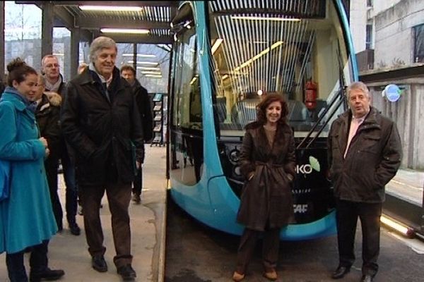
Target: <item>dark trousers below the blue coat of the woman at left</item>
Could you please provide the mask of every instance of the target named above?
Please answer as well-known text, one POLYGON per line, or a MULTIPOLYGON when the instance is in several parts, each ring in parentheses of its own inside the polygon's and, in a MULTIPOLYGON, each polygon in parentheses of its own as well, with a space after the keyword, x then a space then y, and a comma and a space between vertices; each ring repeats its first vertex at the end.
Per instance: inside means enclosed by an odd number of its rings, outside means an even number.
MULTIPOLYGON (((31 273, 45 271, 48 266, 47 252, 49 240, 44 240, 40 245, 31 247, 30 268, 31 273)), ((6 254, 6 266, 11 282, 27 282, 28 276, 23 263, 24 251, 6 254)))

